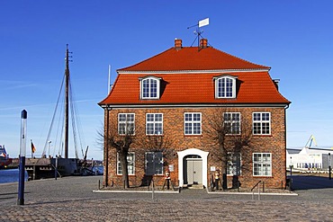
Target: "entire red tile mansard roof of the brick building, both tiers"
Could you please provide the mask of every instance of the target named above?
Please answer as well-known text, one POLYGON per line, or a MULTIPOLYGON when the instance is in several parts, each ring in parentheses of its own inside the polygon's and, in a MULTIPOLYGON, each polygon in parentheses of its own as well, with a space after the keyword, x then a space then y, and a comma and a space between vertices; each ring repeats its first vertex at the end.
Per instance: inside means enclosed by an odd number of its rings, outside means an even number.
POLYGON ((136 65, 119 69, 111 93, 99 104, 289 104, 276 89, 268 70, 269 67, 247 62, 218 49, 167 49, 136 65), (240 85, 236 99, 215 98, 213 77, 222 74, 238 76, 240 85), (139 99, 139 78, 148 75, 160 77, 166 85, 161 87, 159 100, 139 99))

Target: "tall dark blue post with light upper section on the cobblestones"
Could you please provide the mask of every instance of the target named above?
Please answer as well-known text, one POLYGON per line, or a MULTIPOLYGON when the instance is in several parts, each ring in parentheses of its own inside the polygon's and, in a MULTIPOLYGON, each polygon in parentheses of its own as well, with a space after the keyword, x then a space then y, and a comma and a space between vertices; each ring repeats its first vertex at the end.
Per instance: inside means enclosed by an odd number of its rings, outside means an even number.
POLYGON ((25 154, 27 138, 27 111, 23 110, 21 115, 21 138, 20 138, 20 165, 19 165, 19 191, 17 205, 24 205, 24 174, 25 154))

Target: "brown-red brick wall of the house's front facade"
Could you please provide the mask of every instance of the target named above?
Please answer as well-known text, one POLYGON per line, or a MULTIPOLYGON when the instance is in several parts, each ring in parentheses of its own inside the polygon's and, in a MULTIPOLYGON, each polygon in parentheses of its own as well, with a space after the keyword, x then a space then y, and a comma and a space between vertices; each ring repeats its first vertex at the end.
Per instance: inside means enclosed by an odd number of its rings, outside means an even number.
MULTIPOLYGON (((135 140, 139 141, 145 138, 146 113, 163 113, 163 137, 171 141, 172 146, 170 154, 168 154, 165 165, 165 170, 168 164, 174 165, 174 172, 171 172, 172 181, 175 185, 178 184, 178 156, 177 151, 182 151, 188 148, 197 148, 209 152, 208 155, 208 181, 211 179, 213 172, 210 171, 211 166, 222 169, 224 166, 216 158, 216 143, 208 133, 211 117, 216 113, 223 112, 240 112, 241 124, 249 124, 252 126, 252 112, 254 111, 269 111, 271 113, 271 135, 269 136, 252 136, 251 146, 244 147, 241 150, 242 169, 239 181, 242 187, 252 187, 259 180, 265 182, 266 187, 281 188, 285 185, 285 122, 284 108, 173 108, 173 109, 113 109, 109 111, 109 130, 116 131, 118 128, 118 113, 135 113, 135 140), (184 112, 202 112, 202 135, 200 136, 184 136, 184 112), (272 176, 257 177, 253 176, 252 154, 253 153, 271 153, 272 156, 272 176)), ((105 111, 105 126, 107 125, 107 111, 105 111)), ((106 129, 105 129, 106 130, 106 129)), ((106 132, 106 131, 105 131, 106 132)), ((133 143, 130 151, 135 152, 135 175, 130 175, 130 185, 146 184, 151 178, 145 176, 145 155, 144 149, 138 146, 139 143, 133 143)), ((106 147, 106 145, 105 145, 106 147)), ((116 151, 109 147, 104 149, 104 169, 108 169, 104 173, 108 177, 108 185, 122 186, 121 175, 116 174, 116 151), (108 156, 108 160, 106 160, 108 156), (108 164, 106 166, 106 164, 108 164)), ((231 177, 229 177, 229 186, 231 177)), ((162 185, 164 176, 154 176, 154 182, 162 185)), ((205 185, 205 184, 204 184, 205 185)))

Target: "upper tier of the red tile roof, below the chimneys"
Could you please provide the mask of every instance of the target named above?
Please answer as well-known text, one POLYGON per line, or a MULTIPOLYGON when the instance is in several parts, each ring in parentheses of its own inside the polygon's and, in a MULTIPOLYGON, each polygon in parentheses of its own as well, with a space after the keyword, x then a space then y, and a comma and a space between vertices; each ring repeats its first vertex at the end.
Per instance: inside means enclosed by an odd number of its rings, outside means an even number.
POLYGON ((244 59, 229 55, 211 47, 167 49, 131 67, 118 71, 175 71, 175 70, 219 70, 219 69, 269 69, 244 59))

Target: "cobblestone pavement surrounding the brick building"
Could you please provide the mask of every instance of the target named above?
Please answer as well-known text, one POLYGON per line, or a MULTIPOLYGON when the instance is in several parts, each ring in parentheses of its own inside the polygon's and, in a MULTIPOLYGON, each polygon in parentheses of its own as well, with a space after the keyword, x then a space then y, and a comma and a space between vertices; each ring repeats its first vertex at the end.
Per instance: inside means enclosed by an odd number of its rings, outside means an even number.
POLYGON ((333 221, 333 183, 302 189, 297 179, 298 196, 184 190, 153 200, 151 193, 93 192, 101 176, 66 177, 26 182, 23 206, 17 183, 7 183, 0 184, 0 221, 333 221))

